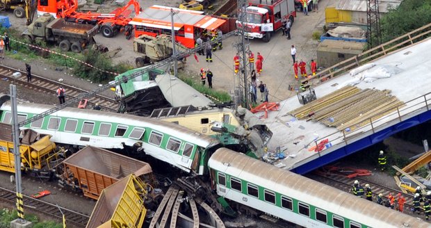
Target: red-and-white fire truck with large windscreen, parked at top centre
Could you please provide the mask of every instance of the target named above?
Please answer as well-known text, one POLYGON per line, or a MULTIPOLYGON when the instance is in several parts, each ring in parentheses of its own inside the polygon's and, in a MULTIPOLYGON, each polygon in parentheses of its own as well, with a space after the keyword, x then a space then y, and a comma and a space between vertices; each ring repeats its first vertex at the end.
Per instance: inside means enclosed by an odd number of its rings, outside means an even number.
MULTIPOLYGON (((293 23, 296 17, 295 0, 248 0, 245 11, 245 35, 250 39, 263 39, 264 42, 270 41, 271 33, 282 29, 284 20, 290 19, 293 23)), ((238 28, 242 24, 236 21, 238 28)))

